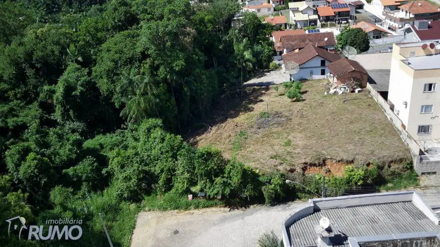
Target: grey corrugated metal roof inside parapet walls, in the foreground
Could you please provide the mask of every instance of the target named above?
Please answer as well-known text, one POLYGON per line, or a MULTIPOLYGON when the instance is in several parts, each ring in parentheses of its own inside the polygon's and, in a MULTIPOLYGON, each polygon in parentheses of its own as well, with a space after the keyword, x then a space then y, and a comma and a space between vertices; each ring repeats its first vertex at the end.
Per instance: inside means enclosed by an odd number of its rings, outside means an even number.
POLYGON ((334 246, 347 245, 347 237, 440 231, 412 202, 373 204, 316 211, 294 222, 288 228, 291 246, 317 246, 315 227, 322 217, 330 219, 334 246))

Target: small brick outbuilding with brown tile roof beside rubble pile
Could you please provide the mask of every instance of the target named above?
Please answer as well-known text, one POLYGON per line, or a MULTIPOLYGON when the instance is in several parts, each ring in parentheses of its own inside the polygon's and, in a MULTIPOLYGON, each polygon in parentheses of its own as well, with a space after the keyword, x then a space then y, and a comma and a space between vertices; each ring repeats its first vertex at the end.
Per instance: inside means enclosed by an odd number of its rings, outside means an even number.
POLYGON ((339 85, 367 87, 368 73, 357 61, 341 58, 327 65, 330 72, 329 80, 339 85))

